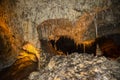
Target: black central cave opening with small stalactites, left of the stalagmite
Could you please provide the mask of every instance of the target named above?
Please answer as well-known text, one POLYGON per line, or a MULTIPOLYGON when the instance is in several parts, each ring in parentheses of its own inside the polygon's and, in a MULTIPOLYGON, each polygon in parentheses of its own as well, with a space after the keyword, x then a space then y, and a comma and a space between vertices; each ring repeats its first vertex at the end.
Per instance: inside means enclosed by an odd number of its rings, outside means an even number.
POLYGON ((96 44, 95 41, 85 41, 80 44, 76 44, 74 39, 70 39, 67 36, 61 36, 56 42, 51 40, 50 43, 57 51, 62 51, 65 54, 71 54, 74 52, 95 54, 96 44))

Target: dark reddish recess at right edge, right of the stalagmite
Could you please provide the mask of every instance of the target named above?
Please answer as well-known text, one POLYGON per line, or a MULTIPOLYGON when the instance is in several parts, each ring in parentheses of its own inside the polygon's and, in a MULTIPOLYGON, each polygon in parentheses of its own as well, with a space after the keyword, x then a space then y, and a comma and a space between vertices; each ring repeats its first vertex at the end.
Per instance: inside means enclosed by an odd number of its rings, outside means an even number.
POLYGON ((110 34, 96 39, 103 56, 116 59, 120 56, 120 34, 110 34))

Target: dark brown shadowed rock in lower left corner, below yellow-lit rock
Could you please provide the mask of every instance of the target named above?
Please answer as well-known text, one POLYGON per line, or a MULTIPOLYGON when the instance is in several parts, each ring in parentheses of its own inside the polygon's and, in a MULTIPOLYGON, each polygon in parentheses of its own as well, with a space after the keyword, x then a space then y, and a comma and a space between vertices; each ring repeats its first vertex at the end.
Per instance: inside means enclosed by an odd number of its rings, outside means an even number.
POLYGON ((35 70, 37 62, 33 62, 29 57, 17 60, 12 66, 0 71, 0 80, 23 80, 35 70))

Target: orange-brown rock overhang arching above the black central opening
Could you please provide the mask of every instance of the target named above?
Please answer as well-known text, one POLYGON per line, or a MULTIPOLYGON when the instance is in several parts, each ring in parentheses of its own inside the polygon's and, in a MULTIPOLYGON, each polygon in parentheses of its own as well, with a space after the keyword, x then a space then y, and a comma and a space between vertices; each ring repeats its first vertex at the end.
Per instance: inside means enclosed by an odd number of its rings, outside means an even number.
POLYGON ((68 36, 74 39, 75 43, 81 43, 84 40, 83 34, 94 21, 95 14, 101 10, 103 9, 95 10, 91 14, 83 13, 75 22, 70 22, 67 19, 49 19, 44 21, 37 28, 39 37, 40 39, 56 41, 60 36, 68 36))

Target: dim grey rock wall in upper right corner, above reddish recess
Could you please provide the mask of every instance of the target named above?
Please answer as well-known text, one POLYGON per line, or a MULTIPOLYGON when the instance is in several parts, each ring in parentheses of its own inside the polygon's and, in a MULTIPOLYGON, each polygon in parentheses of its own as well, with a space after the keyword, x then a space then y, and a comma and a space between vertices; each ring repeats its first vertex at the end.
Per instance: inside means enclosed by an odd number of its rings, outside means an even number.
POLYGON ((120 3, 119 0, 111 0, 109 9, 96 16, 98 35, 120 33, 120 3))

